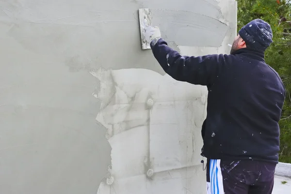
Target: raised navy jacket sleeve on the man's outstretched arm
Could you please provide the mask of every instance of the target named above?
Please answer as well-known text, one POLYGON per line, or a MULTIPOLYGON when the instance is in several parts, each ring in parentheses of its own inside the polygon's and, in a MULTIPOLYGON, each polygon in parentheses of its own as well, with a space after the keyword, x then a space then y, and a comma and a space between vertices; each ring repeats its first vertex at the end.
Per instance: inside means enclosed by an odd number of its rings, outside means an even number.
POLYGON ((162 69, 178 81, 208 86, 213 84, 223 68, 226 68, 227 55, 181 56, 162 38, 154 40, 151 48, 162 69))

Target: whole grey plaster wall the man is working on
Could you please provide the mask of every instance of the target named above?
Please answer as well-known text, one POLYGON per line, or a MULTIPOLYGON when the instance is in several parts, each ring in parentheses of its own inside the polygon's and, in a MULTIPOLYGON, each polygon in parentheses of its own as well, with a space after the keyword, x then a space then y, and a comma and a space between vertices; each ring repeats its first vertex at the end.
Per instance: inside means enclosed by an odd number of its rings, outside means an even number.
POLYGON ((234 0, 0 0, 1 194, 205 194, 207 90, 141 49, 228 53, 234 0))

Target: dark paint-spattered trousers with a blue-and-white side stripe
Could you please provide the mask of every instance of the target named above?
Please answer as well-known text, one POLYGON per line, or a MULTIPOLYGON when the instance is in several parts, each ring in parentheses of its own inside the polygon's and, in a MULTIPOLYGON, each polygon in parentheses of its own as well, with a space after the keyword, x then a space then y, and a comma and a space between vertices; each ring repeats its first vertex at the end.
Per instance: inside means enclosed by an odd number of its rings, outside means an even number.
POLYGON ((276 164, 207 160, 207 194, 272 194, 276 164))

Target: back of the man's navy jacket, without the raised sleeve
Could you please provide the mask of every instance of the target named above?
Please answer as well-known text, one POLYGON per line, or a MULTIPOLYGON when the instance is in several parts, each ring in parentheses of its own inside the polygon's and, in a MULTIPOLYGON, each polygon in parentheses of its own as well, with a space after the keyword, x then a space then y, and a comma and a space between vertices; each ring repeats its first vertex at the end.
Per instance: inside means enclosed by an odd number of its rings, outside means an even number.
POLYGON ((263 57, 263 52, 248 48, 224 56, 223 71, 208 86, 202 129, 207 158, 277 163, 285 89, 263 57))

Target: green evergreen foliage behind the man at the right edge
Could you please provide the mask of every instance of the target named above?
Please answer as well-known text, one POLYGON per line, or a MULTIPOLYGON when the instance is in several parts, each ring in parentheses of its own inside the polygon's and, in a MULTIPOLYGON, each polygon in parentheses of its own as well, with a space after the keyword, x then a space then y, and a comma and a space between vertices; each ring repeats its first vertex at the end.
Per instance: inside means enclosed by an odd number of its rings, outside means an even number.
POLYGON ((265 60, 279 73, 286 88, 286 100, 279 123, 279 160, 291 163, 291 0, 237 1, 238 29, 257 18, 272 27, 274 43, 266 50, 265 60))

